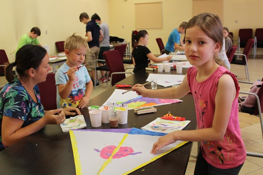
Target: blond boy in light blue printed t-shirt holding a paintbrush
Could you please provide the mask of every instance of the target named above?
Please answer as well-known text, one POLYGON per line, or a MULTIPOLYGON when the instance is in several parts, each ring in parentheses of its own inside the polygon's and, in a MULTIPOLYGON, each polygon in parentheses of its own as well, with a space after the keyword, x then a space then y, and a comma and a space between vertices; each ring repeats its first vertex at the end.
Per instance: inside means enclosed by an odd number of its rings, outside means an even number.
POLYGON ((85 67, 81 66, 86 57, 88 43, 75 34, 64 43, 66 62, 56 71, 57 107, 85 108, 89 103, 92 81, 85 67), (66 74, 63 74, 67 72, 66 74))

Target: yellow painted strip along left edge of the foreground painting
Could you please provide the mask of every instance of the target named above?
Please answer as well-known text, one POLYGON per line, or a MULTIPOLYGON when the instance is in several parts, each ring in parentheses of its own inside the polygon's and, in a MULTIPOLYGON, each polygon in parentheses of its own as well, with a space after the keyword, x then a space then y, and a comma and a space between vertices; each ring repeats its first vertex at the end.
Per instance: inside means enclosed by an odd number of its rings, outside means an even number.
POLYGON ((72 130, 69 130, 70 140, 73 149, 73 156, 76 168, 76 175, 82 175, 80 157, 77 149, 77 140, 72 130))

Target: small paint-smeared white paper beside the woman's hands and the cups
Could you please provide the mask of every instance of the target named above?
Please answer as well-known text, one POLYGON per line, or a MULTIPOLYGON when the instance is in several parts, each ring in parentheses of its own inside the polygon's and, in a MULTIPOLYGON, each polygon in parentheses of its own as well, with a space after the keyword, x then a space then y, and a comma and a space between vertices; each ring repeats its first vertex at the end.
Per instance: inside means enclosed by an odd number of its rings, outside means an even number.
POLYGON ((75 117, 70 117, 69 119, 66 119, 64 123, 60 124, 60 127, 63 132, 67 132, 70 129, 81 129, 85 128, 87 126, 84 116, 78 115, 75 117))

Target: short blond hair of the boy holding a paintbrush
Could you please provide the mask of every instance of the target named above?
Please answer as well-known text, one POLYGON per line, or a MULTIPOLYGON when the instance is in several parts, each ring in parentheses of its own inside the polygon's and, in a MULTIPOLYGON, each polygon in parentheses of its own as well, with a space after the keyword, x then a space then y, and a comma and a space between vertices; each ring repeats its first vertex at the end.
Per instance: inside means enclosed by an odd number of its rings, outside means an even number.
POLYGON ((82 38, 79 35, 75 35, 76 33, 73 33, 73 35, 69 36, 65 43, 64 43, 64 49, 69 50, 69 51, 73 51, 76 50, 78 48, 88 48, 88 50, 90 50, 88 43, 85 41, 84 38, 82 38))

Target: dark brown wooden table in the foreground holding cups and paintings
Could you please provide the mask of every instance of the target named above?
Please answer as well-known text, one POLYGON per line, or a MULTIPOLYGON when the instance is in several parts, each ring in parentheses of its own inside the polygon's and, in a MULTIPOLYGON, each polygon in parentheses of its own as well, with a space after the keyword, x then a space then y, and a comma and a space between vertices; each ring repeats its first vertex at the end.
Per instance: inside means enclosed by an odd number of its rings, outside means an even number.
MULTIPOLYGON (((101 106, 114 90, 115 87, 111 87, 94 97, 88 106, 101 106)), ((137 115, 134 110, 129 110, 127 124, 119 124, 118 128, 141 128, 171 111, 175 116, 191 120, 184 130, 194 130, 197 124, 193 96, 189 93, 181 100, 183 102, 156 106, 156 113, 137 115)), ((87 107, 81 110, 87 124, 83 129, 110 129, 110 124, 103 123, 100 127, 93 128, 87 107)), ((188 142, 131 174, 185 174, 191 149, 192 142, 188 142)), ((1 151, 0 162, 0 174, 76 174, 69 132, 62 132, 59 125, 47 125, 1 151)))

